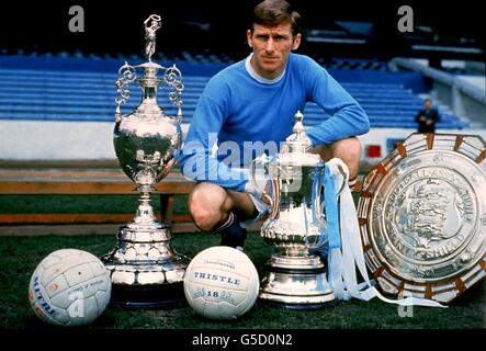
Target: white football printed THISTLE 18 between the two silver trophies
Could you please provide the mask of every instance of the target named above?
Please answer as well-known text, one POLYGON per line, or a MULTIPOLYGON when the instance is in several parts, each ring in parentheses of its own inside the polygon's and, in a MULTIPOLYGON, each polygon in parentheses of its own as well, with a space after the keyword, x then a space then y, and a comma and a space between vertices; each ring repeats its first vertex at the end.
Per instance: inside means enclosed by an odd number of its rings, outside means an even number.
POLYGON ((257 269, 244 252, 217 246, 197 253, 184 276, 189 305, 211 319, 236 319, 253 306, 260 290, 257 269))

